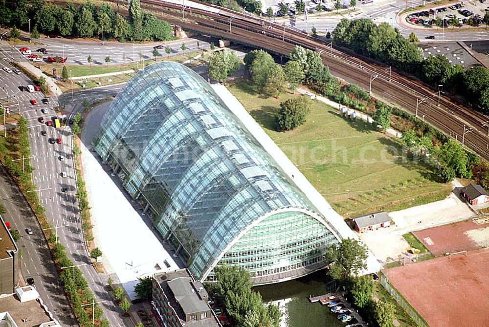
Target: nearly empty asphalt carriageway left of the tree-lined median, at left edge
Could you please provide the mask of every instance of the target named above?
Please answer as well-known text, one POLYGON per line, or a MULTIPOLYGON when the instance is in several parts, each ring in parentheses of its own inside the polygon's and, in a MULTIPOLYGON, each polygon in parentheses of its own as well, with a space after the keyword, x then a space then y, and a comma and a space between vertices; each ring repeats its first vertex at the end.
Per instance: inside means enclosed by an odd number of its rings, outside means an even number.
POLYGON ((21 238, 17 241, 21 257, 22 282, 34 278, 34 287, 41 295, 44 304, 63 326, 78 326, 69 307, 67 297, 58 283, 58 272, 51 252, 45 241, 36 216, 23 197, 20 189, 10 178, 3 165, 0 165, 0 201, 7 213, 4 215, 13 229, 19 230, 21 238), (33 232, 28 235, 25 231, 33 232))

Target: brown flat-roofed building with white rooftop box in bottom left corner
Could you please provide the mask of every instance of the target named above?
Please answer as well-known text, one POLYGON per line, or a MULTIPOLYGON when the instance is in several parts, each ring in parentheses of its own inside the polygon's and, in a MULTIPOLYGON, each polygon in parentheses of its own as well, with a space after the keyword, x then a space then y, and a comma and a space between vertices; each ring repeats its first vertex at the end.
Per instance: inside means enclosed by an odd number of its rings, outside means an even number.
POLYGON ((16 289, 15 295, 0 296, 0 326, 61 327, 33 286, 16 289))

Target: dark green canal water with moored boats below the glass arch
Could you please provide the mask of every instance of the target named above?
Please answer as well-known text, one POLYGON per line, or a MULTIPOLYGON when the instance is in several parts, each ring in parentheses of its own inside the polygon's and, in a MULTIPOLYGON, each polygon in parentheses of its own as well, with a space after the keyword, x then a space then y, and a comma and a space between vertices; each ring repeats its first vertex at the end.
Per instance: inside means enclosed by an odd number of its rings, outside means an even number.
POLYGON ((334 282, 324 270, 305 277, 282 283, 258 286, 255 291, 262 295, 263 302, 286 300, 287 327, 340 327, 336 315, 326 305, 309 302, 311 295, 323 295, 335 291, 334 282), (290 299, 290 300, 287 300, 290 299))

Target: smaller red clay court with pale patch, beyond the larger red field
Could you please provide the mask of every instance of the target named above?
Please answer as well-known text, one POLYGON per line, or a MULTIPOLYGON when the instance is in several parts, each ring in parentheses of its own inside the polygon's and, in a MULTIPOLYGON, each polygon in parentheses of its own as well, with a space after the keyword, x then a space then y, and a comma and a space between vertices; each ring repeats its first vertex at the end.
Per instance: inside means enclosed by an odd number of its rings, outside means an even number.
POLYGON ((425 229, 413 234, 435 256, 465 250, 479 249, 481 246, 467 235, 467 231, 489 228, 489 223, 476 224, 472 219, 425 229))

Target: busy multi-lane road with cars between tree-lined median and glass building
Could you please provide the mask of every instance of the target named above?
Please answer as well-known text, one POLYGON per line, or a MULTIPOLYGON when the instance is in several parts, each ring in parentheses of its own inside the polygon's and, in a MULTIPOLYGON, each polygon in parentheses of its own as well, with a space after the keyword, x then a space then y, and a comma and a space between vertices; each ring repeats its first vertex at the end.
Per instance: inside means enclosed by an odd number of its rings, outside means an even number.
MULTIPOLYGON (((8 64, 6 66, 9 66, 8 64)), ((39 122, 39 117, 44 121, 51 120, 56 116, 52 109, 57 103, 57 98, 49 98, 51 101, 47 105, 42 104, 44 98, 41 92, 20 92, 19 85, 30 84, 31 81, 24 75, 0 71, 0 85, 3 93, 0 93, 2 101, 7 99, 12 112, 20 110, 22 116, 28 121, 29 140, 31 146, 31 164, 34 167, 32 173, 33 182, 38 189, 41 204, 46 208, 46 216, 53 226, 64 226, 58 228, 58 236, 61 243, 66 247, 68 257, 74 264, 84 264, 79 268, 89 283, 89 288, 93 292, 97 301, 107 300, 102 303, 105 317, 109 319, 111 326, 126 326, 122 318, 121 310, 112 304, 111 296, 104 289, 107 284, 107 277, 98 274, 89 262, 89 255, 84 245, 83 233, 81 229, 78 205, 75 197, 76 180, 73 158, 71 155, 71 133, 69 128, 54 128, 47 126, 46 123, 39 122), (30 104, 30 99, 36 99, 36 106, 30 104), (46 111, 45 114, 41 109, 46 111), (41 131, 46 131, 47 135, 42 136, 41 131), (49 138, 61 138, 61 144, 50 144, 49 138), (64 156, 64 160, 59 159, 64 156), (67 177, 61 177, 61 172, 66 171, 67 177), (62 187, 67 187, 68 192, 61 191, 62 187)), ((8 133, 8 131, 7 131, 8 133)))

